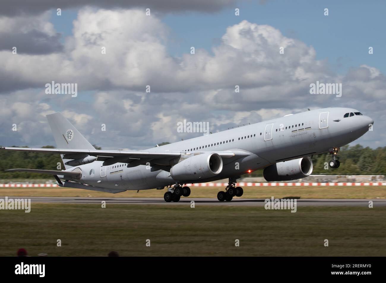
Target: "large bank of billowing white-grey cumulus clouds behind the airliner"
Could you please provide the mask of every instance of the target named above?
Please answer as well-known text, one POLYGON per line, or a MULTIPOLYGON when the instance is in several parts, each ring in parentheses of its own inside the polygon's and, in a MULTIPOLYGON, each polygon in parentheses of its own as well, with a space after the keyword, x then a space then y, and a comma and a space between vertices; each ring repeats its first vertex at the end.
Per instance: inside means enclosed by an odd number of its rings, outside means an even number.
MULTIPOLYGON (((45 32, 54 35, 45 21, 45 32)), ((363 141, 381 145, 386 128, 377 119, 384 119, 384 74, 367 65, 336 74, 327 61, 316 59, 312 46, 269 25, 242 21, 227 28, 213 54, 196 49, 195 54, 171 57, 168 27, 143 10, 84 8, 73 24, 63 52, 0 51, 0 97, 7 96, 0 115, 8 121, 2 127, 8 131, 9 121, 18 119, 29 121, 28 131, 34 132, 1 137, 8 145, 52 141, 40 113, 58 110, 91 143, 144 149, 197 136, 177 132, 177 122, 183 119, 209 122, 210 131, 216 132, 306 108, 334 106, 371 113, 374 134, 363 141), (280 47, 284 54, 279 54, 280 47), (45 94, 44 85, 52 80, 78 83, 78 97, 45 94), (342 83, 342 97, 311 95, 310 83, 317 80, 342 83), (23 95, 21 89, 31 87, 36 89, 23 95), (106 131, 101 131, 102 124, 106 131)))

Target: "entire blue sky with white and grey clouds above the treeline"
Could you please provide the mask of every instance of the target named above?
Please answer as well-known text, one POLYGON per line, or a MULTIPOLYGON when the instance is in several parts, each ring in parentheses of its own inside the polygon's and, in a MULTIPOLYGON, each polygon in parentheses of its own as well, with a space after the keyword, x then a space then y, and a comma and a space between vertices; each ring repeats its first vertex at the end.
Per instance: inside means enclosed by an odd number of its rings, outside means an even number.
POLYGON ((55 145, 56 111, 103 149, 145 149, 197 136, 183 119, 216 132, 339 106, 375 121, 354 144, 386 146, 386 5, 308 2, 3 0, 0 144, 55 145), (46 94, 51 81, 78 95, 46 94), (316 81, 342 97, 310 94, 316 81))

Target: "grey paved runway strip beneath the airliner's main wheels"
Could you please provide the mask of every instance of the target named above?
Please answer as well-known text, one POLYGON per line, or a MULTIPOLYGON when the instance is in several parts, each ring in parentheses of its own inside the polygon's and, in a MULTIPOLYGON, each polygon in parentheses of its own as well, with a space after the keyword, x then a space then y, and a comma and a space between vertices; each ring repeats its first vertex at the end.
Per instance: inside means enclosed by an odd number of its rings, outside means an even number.
MULTIPOLYGON (((1 196, 0 199, 5 199, 1 196)), ((181 198, 178 203, 166 203, 163 198, 75 198, 75 197, 12 197, 8 199, 30 199, 31 203, 81 203, 95 204, 105 201, 109 204, 151 204, 151 205, 187 205, 195 202, 195 207, 201 205, 220 206, 264 206, 264 199, 234 198, 232 201, 220 202, 217 198, 181 198)), ((373 207, 386 206, 386 199, 296 199, 298 206, 363 206, 368 207, 369 201, 373 207)))

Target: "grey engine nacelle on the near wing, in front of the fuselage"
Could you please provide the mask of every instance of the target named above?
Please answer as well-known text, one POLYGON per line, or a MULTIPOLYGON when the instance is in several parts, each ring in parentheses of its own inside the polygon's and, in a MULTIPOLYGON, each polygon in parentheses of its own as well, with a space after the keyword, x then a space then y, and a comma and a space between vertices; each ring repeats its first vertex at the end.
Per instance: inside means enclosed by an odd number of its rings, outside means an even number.
POLYGON ((206 179, 222 171, 222 158, 217 153, 206 152, 188 157, 170 169, 176 181, 206 179))

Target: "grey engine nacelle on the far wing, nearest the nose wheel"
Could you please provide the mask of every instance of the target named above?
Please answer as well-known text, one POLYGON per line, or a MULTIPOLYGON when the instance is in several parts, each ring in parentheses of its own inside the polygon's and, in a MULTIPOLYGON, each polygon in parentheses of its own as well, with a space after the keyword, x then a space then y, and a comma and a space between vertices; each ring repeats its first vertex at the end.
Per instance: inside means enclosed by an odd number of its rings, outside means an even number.
POLYGON ((312 173, 310 157, 278 162, 264 169, 264 179, 271 181, 290 181, 310 176, 312 173))

